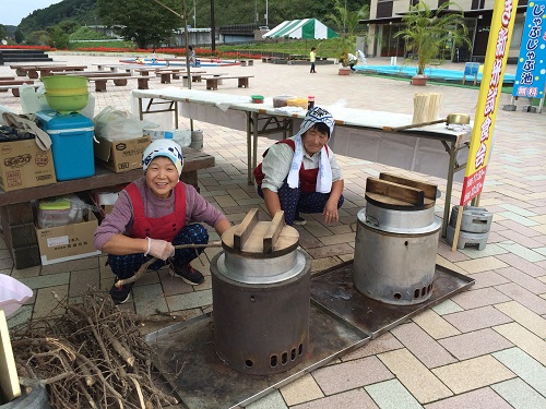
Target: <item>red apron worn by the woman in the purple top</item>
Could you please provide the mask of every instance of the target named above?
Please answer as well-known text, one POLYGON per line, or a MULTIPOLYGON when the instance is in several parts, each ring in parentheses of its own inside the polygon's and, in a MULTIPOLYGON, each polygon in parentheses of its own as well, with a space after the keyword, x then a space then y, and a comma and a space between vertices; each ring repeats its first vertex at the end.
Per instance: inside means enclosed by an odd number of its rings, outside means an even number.
POLYGON ((131 237, 145 239, 159 239, 171 242, 176 234, 186 226, 186 187, 178 182, 175 191, 175 212, 163 217, 146 217, 144 203, 136 184, 131 183, 127 188, 129 199, 133 206, 133 229, 131 237))

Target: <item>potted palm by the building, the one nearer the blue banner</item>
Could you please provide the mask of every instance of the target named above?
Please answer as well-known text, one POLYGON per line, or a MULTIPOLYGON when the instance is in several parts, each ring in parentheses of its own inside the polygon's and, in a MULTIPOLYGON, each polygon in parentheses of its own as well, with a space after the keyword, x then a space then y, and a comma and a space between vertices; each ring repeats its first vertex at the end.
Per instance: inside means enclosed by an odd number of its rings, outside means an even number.
POLYGON ((424 1, 410 8, 402 17, 404 28, 394 36, 406 41, 406 50, 417 56, 417 75, 412 79, 414 85, 425 85, 425 68, 435 59, 442 59, 446 49, 466 44, 472 47, 468 28, 464 24, 462 9, 452 1, 443 2, 437 10, 431 10, 424 1), (460 11, 447 10, 454 5, 460 11))

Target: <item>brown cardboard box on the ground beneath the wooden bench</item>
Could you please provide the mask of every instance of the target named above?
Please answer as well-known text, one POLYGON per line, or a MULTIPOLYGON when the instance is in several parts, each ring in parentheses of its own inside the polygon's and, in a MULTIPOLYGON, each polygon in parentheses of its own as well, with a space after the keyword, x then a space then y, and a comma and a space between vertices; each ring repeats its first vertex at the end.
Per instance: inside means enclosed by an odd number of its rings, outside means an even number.
POLYGON ((82 222, 45 229, 36 227, 41 265, 100 254, 93 241, 97 227, 98 220, 88 209, 85 210, 82 222))

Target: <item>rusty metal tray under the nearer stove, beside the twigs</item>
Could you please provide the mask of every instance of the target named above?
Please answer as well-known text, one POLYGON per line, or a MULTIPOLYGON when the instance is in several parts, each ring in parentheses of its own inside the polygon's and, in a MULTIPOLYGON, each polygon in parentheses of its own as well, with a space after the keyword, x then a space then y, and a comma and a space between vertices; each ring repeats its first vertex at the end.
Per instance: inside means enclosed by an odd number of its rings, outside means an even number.
POLYGON ((155 365, 189 409, 217 409, 248 405, 370 339, 313 305, 309 337, 306 359, 272 376, 240 373, 222 362, 214 348, 211 315, 150 334, 145 340, 157 352, 155 365))

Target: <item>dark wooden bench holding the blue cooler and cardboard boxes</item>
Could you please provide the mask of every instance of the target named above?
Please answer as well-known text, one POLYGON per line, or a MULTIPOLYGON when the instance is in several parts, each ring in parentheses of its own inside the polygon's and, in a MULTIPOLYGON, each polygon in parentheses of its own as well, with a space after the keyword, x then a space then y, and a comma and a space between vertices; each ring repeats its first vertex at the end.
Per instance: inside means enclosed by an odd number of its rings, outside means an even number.
MULTIPOLYGON (((214 156, 190 147, 182 148, 183 169, 180 180, 198 188, 198 170, 215 165, 214 156)), ((0 190, 0 218, 2 232, 15 267, 27 268, 40 264, 34 227, 32 201, 87 190, 130 183, 143 176, 142 169, 115 173, 97 166, 95 176, 67 180, 36 188, 4 192, 0 190)))

